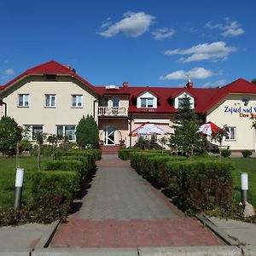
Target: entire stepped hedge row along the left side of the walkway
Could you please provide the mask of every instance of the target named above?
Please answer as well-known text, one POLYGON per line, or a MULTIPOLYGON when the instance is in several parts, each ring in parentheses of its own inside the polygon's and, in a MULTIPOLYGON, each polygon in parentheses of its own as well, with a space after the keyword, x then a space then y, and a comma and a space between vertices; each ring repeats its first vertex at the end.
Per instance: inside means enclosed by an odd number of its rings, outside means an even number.
POLYGON ((58 160, 50 160, 46 170, 33 172, 32 201, 20 210, 0 212, 0 225, 50 223, 67 218, 74 197, 100 157, 98 150, 58 153, 58 160))

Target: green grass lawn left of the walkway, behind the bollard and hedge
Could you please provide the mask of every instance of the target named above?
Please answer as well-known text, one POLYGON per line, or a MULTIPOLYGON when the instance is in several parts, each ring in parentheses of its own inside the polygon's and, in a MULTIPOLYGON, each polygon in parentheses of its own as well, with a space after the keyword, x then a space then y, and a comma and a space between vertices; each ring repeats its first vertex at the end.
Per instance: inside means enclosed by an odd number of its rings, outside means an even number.
MULTIPOLYGON (((44 169, 47 160, 50 158, 42 157, 42 169, 44 169)), ((14 205, 15 165, 15 158, 0 157, 0 207, 12 207, 14 205)), ((22 201, 29 201, 31 195, 30 177, 32 172, 38 170, 37 157, 21 157, 20 167, 25 170, 22 201)))

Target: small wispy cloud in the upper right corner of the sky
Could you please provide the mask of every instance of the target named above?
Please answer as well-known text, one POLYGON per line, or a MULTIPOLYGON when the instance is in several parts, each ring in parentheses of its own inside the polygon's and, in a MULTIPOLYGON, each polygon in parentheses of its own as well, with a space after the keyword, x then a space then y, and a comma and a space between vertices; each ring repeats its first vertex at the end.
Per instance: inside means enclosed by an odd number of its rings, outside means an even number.
POLYGON ((226 18, 224 24, 213 25, 212 21, 208 21, 205 26, 211 29, 220 29, 223 31, 221 34, 224 38, 237 37, 245 32, 237 21, 232 21, 230 18, 226 18))

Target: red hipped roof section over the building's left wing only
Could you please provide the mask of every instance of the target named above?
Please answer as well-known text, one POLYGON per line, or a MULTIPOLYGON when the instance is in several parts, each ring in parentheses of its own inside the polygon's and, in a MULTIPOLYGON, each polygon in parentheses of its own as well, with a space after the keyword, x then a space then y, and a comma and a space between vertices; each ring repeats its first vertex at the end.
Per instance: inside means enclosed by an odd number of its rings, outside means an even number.
POLYGON ((0 90, 4 90, 5 88, 15 84, 19 80, 24 79, 26 76, 29 76, 32 74, 70 75, 70 76, 73 76, 75 79, 78 79, 81 83, 87 85, 91 90, 94 90, 96 92, 95 86, 90 84, 85 79, 81 78, 77 73, 74 73, 73 70, 71 70, 70 68, 63 66, 56 61, 48 61, 48 62, 45 62, 37 67, 32 67, 32 68, 27 69, 24 73, 21 73, 18 77, 9 81, 9 83, 4 84, 2 86, 2 88, 0 87, 0 90))

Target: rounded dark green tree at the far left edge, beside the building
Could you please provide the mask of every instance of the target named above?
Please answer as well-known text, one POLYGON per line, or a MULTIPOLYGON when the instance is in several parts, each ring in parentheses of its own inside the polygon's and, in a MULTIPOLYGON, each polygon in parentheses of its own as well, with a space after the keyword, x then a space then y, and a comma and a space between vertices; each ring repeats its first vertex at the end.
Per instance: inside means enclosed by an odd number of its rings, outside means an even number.
POLYGON ((21 138, 22 128, 15 122, 15 119, 3 116, 0 119, 0 152, 3 155, 14 155, 19 148, 21 138))

